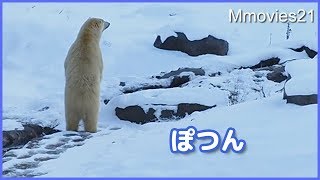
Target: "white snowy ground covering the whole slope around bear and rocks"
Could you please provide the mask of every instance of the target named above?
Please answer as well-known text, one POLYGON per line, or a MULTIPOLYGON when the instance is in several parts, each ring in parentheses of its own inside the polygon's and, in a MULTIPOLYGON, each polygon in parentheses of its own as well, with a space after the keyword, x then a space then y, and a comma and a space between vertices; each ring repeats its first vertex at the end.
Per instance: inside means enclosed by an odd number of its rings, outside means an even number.
POLYGON ((281 91, 284 83, 264 77, 256 81, 257 72, 233 68, 253 66, 275 56, 283 63, 296 59, 299 62, 286 67, 298 77, 295 82, 288 81, 292 90, 316 93, 317 57, 310 60, 304 52, 288 48, 306 45, 317 50, 318 24, 291 24, 292 34, 286 40, 286 24, 229 23, 230 8, 255 12, 314 9, 315 22, 318 17, 315 3, 3 4, 3 130, 22 128, 21 123, 64 130, 66 53, 88 17, 102 17, 111 23, 101 40, 105 69, 99 132, 64 131, 44 137, 36 147, 13 150, 3 159, 3 170, 10 172, 6 176, 317 176, 317 105, 286 104, 281 91), (225 39, 228 56, 189 57, 152 46, 157 35, 165 38, 174 31, 183 31, 191 40, 208 34, 225 39), (220 71, 222 76, 195 77, 182 88, 119 94, 120 81, 135 86, 150 82, 147 77, 180 67, 202 67, 207 73, 220 71), (313 73, 306 73, 309 71, 313 73), (204 86, 197 87, 200 81, 204 86), (226 92, 210 89, 206 86, 210 83, 227 90, 240 89, 242 96, 230 104, 226 92), (267 94, 261 95, 252 87, 264 87, 267 94), (104 105, 104 98, 113 99, 104 105), (187 100, 219 106, 179 121, 145 125, 119 120, 113 108, 187 100), (48 110, 39 111, 46 106, 48 110), (247 149, 241 154, 172 154, 170 130, 190 125, 199 130, 214 129, 221 135, 233 127, 237 136, 246 140, 247 149))

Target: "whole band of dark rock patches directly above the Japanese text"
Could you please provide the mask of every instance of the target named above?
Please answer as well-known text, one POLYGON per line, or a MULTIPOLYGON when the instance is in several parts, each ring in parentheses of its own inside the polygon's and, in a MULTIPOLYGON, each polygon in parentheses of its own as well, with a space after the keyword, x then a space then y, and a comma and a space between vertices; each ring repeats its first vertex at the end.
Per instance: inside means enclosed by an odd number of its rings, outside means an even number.
MULTIPOLYGON (((153 104, 155 105, 155 104, 153 104)), ((161 105, 161 109, 166 105, 161 105)), ((172 107, 172 105, 170 106, 172 107)), ((126 108, 116 107, 115 112, 119 119, 130 121, 137 124, 145 124, 148 122, 155 122, 162 119, 180 119, 185 117, 187 114, 192 114, 195 111, 204 111, 214 106, 205 106, 196 103, 180 103, 177 105, 177 113, 171 109, 164 109, 161 111, 160 119, 158 119, 154 113, 155 109, 149 108, 146 113, 140 106, 128 106, 126 108)))

